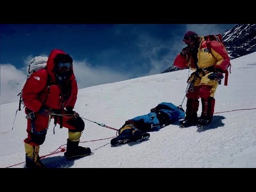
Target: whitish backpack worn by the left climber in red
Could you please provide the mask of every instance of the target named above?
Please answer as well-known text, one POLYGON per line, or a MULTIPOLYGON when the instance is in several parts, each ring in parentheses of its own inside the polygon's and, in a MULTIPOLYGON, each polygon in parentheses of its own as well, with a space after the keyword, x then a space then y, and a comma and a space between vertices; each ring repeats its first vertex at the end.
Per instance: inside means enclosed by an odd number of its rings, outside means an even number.
MULTIPOLYGON (((27 80, 26 82, 28 81, 29 77, 35 73, 36 71, 38 71, 39 69, 45 69, 46 68, 46 63, 47 63, 47 59, 48 57, 41 57, 41 56, 38 56, 38 57, 35 57, 33 58, 30 62, 29 62, 29 65, 27 67, 27 80)), ((48 79, 47 79, 47 83, 46 83, 46 86, 47 84, 49 84, 48 82, 50 82, 50 79, 49 79, 49 76, 48 76, 48 79)), ((23 89, 22 89, 23 90, 23 89)), ((20 96, 20 100, 19 100, 19 108, 17 109, 17 111, 21 110, 21 104, 23 105, 23 108, 25 107, 25 104, 23 102, 23 99, 22 99, 22 90, 20 91, 20 93, 17 95, 17 97, 20 96)), ((16 112, 17 113, 17 112, 16 112)))

